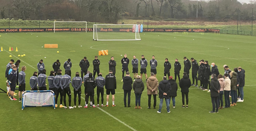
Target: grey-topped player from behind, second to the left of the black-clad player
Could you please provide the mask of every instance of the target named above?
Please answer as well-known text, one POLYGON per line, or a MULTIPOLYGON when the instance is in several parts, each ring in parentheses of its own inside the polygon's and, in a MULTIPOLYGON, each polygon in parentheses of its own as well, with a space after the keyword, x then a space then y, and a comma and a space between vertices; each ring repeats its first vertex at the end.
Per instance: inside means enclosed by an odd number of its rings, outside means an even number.
POLYGON ((66 94, 68 94, 68 105, 69 109, 72 109, 71 107, 71 90, 69 88, 69 83, 71 82, 71 77, 68 75, 69 72, 65 72, 65 75, 61 77, 61 89, 63 91, 63 99, 64 99, 64 105, 65 109, 66 107, 66 94))

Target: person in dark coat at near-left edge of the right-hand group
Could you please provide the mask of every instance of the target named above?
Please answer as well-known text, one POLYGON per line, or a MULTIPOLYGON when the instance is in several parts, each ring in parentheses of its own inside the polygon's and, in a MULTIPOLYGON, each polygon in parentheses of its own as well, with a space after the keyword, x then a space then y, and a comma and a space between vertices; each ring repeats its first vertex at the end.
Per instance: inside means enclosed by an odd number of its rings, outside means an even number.
POLYGON ((212 74, 211 87, 212 111, 209 113, 219 113, 218 97, 220 92, 220 83, 218 82, 218 79, 214 73, 212 74))

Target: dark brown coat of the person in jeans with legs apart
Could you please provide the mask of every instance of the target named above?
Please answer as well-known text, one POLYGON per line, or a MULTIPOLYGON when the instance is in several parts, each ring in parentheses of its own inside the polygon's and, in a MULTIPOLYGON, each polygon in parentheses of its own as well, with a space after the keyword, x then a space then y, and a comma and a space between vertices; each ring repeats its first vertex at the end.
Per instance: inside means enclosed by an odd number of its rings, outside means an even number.
POLYGON ((162 80, 162 82, 159 83, 158 90, 159 98, 170 98, 171 84, 168 80, 162 80), (163 93, 166 93, 167 95, 163 95, 163 93))

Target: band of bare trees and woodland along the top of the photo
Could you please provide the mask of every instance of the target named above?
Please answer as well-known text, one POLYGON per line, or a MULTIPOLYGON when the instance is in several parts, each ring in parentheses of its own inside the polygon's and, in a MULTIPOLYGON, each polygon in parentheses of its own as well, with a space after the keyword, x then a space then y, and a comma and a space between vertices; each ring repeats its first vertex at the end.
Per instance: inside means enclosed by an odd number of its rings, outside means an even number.
MULTIPOLYGON (((256 1, 237 0, 1 0, 0 19, 117 23, 129 19, 251 20, 256 1)), ((256 11, 256 10, 255 10, 256 11)))

